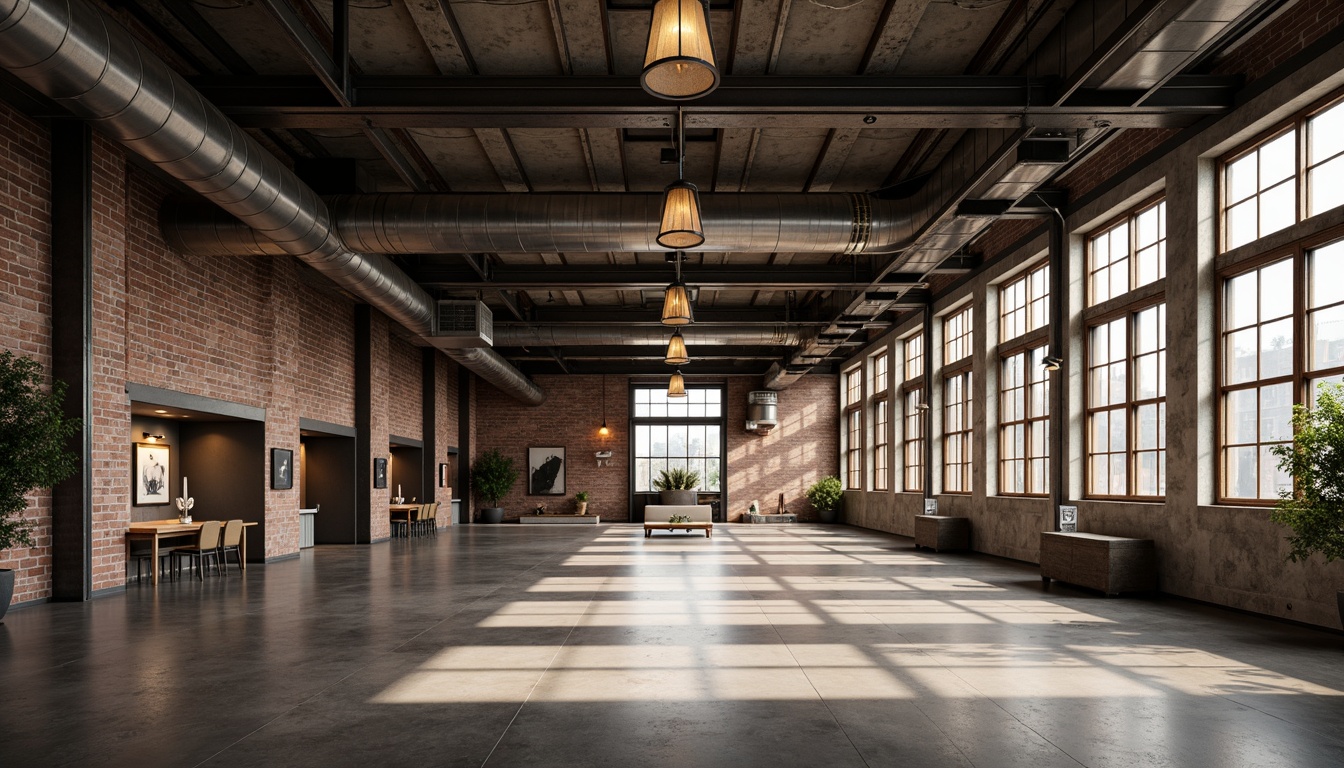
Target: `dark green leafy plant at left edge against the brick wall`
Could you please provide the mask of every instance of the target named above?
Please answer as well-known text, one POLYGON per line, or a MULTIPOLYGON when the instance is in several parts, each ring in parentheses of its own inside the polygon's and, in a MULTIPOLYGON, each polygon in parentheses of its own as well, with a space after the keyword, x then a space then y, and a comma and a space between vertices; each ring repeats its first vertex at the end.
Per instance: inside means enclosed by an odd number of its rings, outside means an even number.
MULTIPOLYGON (((0 354, 0 551, 32 546, 32 521, 23 516, 28 494, 50 488, 78 468, 66 440, 78 418, 60 413, 65 382, 46 390, 42 366, 12 352, 0 354)), ((0 569, 0 619, 13 599, 13 570, 0 569)))

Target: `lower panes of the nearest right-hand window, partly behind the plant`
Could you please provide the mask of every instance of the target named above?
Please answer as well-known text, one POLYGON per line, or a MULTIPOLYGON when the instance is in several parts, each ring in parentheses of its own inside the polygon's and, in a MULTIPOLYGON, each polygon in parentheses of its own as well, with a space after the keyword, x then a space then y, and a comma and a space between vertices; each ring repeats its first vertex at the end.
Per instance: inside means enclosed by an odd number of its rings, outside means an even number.
POLYGON ((1292 487, 1269 449, 1293 438, 1293 404, 1312 404, 1317 385, 1344 379, 1344 241, 1298 246, 1224 280, 1220 336, 1222 498, 1270 502, 1292 487), (1301 325, 1294 305, 1305 312, 1301 325))

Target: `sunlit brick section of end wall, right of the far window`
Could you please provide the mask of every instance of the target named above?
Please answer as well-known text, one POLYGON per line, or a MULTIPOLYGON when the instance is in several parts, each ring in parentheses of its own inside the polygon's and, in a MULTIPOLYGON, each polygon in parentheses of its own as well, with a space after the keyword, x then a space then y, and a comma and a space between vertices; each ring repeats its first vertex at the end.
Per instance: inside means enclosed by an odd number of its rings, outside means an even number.
POLYGON ((809 374, 780 393, 780 426, 770 434, 743 429, 747 393, 758 377, 728 379, 728 521, 739 521, 753 499, 761 511, 784 506, 800 519, 816 519, 808 486, 840 471, 839 377, 809 374))

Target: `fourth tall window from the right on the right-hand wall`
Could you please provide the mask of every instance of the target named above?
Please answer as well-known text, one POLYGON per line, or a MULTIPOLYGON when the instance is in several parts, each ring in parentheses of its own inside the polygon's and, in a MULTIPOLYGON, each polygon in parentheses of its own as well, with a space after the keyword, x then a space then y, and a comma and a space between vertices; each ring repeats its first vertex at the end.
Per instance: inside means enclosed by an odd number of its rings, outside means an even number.
POLYGON ((970 364, 974 348, 972 308, 943 321, 942 490, 970 492, 972 405, 970 364))

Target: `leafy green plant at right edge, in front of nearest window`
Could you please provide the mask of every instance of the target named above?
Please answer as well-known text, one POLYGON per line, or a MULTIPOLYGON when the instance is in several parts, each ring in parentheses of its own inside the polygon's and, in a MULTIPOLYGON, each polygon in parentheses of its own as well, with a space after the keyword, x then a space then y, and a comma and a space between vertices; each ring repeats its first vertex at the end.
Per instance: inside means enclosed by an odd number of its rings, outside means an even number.
MULTIPOLYGON (((1293 443, 1274 445, 1278 469, 1293 477, 1270 519, 1292 529, 1288 560, 1344 558, 1344 386, 1322 383, 1316 408, 1293 406, 1293 443)), ((1344 620, 1344 592, 1336 592, 1344 620)))

